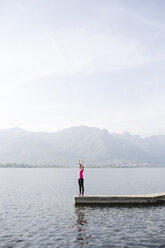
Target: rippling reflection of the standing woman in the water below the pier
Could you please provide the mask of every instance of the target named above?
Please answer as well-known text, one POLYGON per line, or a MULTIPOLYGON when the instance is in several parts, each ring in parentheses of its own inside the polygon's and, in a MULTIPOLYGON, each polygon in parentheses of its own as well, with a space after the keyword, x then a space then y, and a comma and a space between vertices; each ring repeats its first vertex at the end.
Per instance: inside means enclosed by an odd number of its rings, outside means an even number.
POLYGON ((75 207, 75 214, 77 215, 77 221, 73 228, 77 233, 76 243, 78 243, 80 247, 83 247, 83 245, 89 243, 91 238, 91 234, 89 234, 87 230, 88 222, 85 218, 85 207, 75 207))

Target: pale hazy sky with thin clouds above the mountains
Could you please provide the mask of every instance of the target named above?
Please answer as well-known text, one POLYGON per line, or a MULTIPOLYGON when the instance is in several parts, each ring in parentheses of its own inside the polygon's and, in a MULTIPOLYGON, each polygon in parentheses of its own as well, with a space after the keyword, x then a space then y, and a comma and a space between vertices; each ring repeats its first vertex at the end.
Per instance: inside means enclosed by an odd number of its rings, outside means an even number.
POLYGON ((0 0, 0 128, 165 134, 164 0, 0 0))

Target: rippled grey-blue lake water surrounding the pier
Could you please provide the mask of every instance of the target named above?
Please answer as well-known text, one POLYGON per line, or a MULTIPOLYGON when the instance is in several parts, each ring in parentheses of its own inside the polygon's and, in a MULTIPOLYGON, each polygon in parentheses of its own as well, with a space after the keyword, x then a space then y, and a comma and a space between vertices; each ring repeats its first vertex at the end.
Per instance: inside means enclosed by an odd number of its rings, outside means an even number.
MULTIPOLYGON (((86 168, 85 194, 165 192, 165 169, 86 168)), ((165 206, 74 207, 77 169, 0 169, 0 247, 165 247, 165 206)))

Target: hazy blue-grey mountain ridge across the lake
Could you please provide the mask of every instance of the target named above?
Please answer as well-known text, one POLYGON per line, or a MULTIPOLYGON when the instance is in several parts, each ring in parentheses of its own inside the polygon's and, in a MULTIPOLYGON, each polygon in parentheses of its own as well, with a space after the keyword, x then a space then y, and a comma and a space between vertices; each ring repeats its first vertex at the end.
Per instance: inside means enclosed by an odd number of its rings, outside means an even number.
POLYGON ((73 165, 149 163, 165 165, 165 136, 141 138, 129 133, 78 126, 58 132, 29 132, 18 127, 0 130, 0 163, 73 165))

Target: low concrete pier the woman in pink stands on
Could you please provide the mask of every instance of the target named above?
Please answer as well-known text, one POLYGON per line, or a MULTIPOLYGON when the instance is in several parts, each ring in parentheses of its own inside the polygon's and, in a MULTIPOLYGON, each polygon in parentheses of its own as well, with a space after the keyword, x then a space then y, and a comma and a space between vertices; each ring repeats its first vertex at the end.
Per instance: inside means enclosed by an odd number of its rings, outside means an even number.
POLYGON ((145 195, 85 195, 74 197, 75 206, 138 206, 165 204, 165 193, 145 195))

